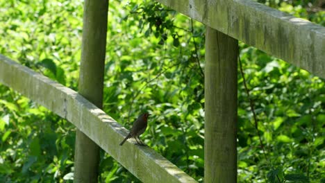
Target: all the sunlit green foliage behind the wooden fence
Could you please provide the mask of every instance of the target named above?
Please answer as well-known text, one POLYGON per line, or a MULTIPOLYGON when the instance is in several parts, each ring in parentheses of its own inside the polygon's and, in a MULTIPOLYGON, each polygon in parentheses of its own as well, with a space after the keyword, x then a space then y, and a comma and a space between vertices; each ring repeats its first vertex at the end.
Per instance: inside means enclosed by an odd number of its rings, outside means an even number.
MULTIPOLYGON (((265 3, 324 24, 304 1, 265 3)), ((82 1, 0 5, 0 53, 77 89, 82 1)), ((150 112, 145 143, 203 182, 204 26, 135 0, 110 1, 108 21, 103 110, 126 128, 150 112)), ((265 152, 238 72, 238 182, 324 182, 324 80, 242 43, 240 58, 265 152)), ((74 126, 3 85, 0 96, 0 182, 72 182, 74 126)), ((100 170, 139 182, 103 152, 100 170)))

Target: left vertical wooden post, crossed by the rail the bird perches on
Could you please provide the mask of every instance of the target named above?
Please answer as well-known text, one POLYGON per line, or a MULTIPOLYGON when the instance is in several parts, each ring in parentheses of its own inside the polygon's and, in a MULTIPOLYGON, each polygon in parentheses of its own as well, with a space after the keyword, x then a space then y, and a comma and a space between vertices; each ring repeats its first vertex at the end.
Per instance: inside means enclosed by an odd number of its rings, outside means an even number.
MULTIPOLYGON (((106 53, 108 0, 85 0, 79 94, 101 108, 106 53)), ((76 132, 74 182, 97 182, 99 146, 83 132, 76 132)))

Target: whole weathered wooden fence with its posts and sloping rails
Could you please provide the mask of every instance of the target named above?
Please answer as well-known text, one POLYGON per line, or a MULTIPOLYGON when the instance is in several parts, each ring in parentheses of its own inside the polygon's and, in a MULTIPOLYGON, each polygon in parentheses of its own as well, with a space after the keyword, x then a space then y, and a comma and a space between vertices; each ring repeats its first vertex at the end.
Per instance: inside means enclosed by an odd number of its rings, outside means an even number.
MULTIPOLYGON (((251 0, 157 1, 206 25, 204 182, 236 182, 238 40, 325 78, 325 28, 251 0)), ((106 44, 102 41, 106 40, 103 22, 107 21, 107 8, 108 1, 85 0, 82 67, 85 67, 83 61, 91 64, 94 57, 103 62, 106 44), (92 31, 101 36, 94 36, 92 31)), ((97 81, 102 80, 101 76, 98 78, 97 81)), ((196 182, 148 147, 132 143, 120 147, 118 144, 127 130, 100 110, 100 106, 90 103, 97 100, 101 105, 101 97, 88 101, 83 97, 87 92, 81 92, 81 96, 3 55, 0 55, 0 82, 76 125, 85 137, 142 182, 196 182), (48 100, 48 96, 56 98, 48 100)), ((92 92, 88 94, 94 96, 92 92)), ((76 166, 83 168, 80 164, 76 166)), ((92 182, 82 178, 78 180, 92 182)))

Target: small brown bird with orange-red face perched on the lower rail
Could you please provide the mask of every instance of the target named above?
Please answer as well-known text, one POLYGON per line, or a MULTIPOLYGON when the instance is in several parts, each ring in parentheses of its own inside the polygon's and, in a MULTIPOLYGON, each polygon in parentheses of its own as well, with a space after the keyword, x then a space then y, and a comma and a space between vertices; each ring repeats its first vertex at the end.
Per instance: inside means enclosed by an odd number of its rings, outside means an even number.
MULTIPOLYGON (((143 132, 146 130, 147 128, 147 120, 148 120, 148 116, 150 116, 149 113, 144 113, 141 114, 140 116, 138 116, 138 119, 134 121, 133 126, 130 130, 130 132, 128 133, 128 135, 125 137, 125 139, 119 143, 119 146, 122 146, 123 143, 127 140, 130 139, 131 137, 134 137, 135 141, 138 142, 138 139, 140 140, 140 134, 143 134, 143 132)), ((142 143, 142 141, 140 140, 141 143, 138 142, 138 144, 141 144, 142 146, 144 146, 144 144, 142 143)))

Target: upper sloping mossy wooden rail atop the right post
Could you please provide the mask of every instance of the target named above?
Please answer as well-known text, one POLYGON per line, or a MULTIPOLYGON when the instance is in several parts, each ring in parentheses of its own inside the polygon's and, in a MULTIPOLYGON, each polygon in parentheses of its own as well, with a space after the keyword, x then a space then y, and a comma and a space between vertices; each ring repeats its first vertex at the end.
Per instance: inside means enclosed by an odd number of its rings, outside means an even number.
POLYGON ((325 28, 251 0, 156 0, 325 78, 325 28))

